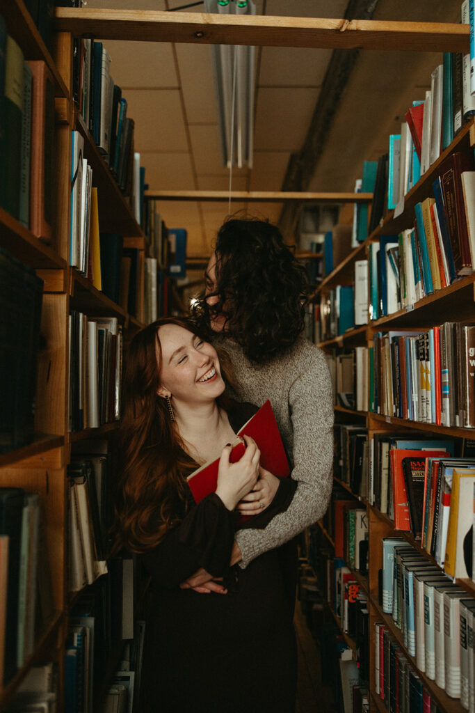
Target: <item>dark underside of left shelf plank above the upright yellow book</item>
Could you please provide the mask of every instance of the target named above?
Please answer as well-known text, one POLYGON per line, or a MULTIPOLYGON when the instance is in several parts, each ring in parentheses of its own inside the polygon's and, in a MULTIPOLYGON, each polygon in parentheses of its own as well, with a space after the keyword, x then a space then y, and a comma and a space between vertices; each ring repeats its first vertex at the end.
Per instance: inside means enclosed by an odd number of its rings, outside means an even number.
POLYGON ((75 127, 84 137, 84 158, 93 168, 93 185, 98 188, 100 230, 118 232, 127 237, 144 237, 137 225, 130 205, 128 205, 117 181, 105 164, 103 155, 95 145, 82 116, 75 109, 75 127))

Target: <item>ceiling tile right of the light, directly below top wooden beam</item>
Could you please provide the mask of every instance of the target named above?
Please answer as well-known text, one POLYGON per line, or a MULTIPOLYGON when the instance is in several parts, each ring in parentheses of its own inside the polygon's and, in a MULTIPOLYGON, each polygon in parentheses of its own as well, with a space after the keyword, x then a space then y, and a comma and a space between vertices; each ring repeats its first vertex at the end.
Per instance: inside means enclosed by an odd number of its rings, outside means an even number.
POLYGON ((259 86, 320 86, 332 51, 306 47, 263 47, 259 86))

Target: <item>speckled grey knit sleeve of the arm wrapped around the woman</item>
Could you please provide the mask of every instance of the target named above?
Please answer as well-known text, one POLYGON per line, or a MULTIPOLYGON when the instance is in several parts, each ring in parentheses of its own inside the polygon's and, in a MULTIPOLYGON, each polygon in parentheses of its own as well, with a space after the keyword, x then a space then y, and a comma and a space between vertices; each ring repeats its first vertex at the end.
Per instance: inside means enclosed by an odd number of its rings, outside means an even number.
POLYGON ((287 510, 263 530, 241 530, 236 542, 240 566, 291 540, 325 513, 332 489, 333 395, 330 372, 322 352, 288 392, 293 425, 293 471, 298 486, 287 510))

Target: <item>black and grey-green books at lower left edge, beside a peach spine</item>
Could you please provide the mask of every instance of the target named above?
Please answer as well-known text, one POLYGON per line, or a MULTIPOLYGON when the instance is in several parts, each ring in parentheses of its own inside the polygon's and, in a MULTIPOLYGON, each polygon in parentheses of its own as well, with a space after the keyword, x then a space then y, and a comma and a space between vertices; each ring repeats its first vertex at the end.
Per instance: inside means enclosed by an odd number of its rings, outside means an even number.
POLYGON ((38 493, 0 488, 0 677, 8 682, 53 613, 38 493))

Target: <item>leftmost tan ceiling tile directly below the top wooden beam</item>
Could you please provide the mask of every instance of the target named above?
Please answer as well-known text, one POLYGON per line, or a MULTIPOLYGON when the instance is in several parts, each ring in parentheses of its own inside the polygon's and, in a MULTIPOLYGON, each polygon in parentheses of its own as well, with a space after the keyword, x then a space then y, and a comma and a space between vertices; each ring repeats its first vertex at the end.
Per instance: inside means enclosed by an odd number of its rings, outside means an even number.
POLYGON ((122 89, 177 87, 172 45, 168 42, 106 40, 110 73, 122 89))

